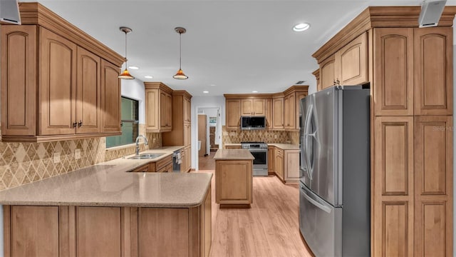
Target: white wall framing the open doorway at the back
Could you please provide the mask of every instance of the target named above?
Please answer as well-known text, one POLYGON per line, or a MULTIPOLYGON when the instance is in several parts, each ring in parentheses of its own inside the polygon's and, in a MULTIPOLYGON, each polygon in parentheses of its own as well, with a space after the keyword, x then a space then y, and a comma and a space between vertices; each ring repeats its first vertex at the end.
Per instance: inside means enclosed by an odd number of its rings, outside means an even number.
POLYGON ((196 168, 198 161, 198 108, 220 107, 222 126, 225 124, 225 98, 224 96, 194 96, 192 98, 192 168, 196 168))

